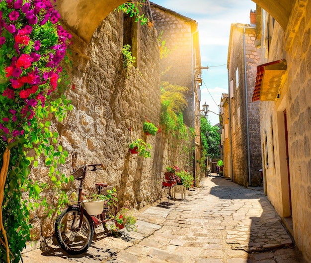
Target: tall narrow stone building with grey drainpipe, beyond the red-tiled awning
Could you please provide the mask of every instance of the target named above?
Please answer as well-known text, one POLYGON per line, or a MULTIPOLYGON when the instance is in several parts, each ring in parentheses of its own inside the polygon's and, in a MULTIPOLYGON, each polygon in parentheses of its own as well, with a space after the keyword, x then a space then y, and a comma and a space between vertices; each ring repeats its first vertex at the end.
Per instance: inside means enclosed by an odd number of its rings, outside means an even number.
MULTIPOLYGON (((243 186, 259 186, 261 178, 260 132, 258 104, 251 101, 256 66, 260 62, 255 47, 255 27, 232 24, 228 51, 229 104, 233 182, 243 186)), ((224 153, 228 158, 228 152, 224 153)), ((230 161, 224 162, 228 165, 230 161)), ((229 170, 229 168, 227 168, 229 170)))

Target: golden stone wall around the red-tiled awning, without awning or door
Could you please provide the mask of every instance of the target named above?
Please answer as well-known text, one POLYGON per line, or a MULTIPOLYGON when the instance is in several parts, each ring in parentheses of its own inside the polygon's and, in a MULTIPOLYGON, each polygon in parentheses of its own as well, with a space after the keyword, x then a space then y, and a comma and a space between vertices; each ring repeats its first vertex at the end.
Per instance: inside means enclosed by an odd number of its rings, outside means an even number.
MULTIPOLYGON (((266 54, 264 62, 285 58, 287 74, 285 83, 280 87, 280 98, 272 102, 260 102, 261 135, 264 136, 265 130, 273 131, 273 149, 269 149, 272 145, 268 143, 268 153, 270 156, 273 154, 275 167, 265 165, 267 195, 281 217, 292 215, 293 225, 287 226, 308 262, 311 261, 311 101, 308 99, 311 93, 310 18, 311 1, 295 0, 286 30, 276 23, 269 50, 267 47, 264 49, 262 44, 262 52, 266 54)), ((266 155, 265 150, 263 155, 266 155)))

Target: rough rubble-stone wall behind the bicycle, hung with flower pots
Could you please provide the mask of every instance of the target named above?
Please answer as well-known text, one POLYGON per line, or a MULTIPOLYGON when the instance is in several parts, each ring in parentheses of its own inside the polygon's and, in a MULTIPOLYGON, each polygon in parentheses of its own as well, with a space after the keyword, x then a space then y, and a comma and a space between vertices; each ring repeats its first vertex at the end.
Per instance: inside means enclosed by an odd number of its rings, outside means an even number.
MULTIPOLYGON (((148 7, 144 8, 148 14, 148 7)), ((59 143, 70 154, 60 167, 62 172, 69 176, 72 166, 103 163, 104 170, 89 173, 83 191, 88 193, 95 182, 106 181, 116 186, 121 206, 134 208, 159 198, 167 165, 192 171, 191 139, 177 142, 172 134, 146 136, 143 132, 146 117, 159 124, 160 68, 155 27, 139 26, 138 30, 140 63, 138 68, 130 69, 128 78, 122 66, 123 14, 109 14, 89 45, 74 35, 73 66, 67 70, 75 88, 66 92, 74 109, 61 124, 53 126, 60 135, 59 143), (131 140, 137 138, 152 145, 152 158, 129 153, 131 140)), ((32 169, 31 176, 49 182, 43 163, 44 158, 38 168, 32 169)), ((64 186, 68 193, 76 188, 76 183, 64 186)), ((55 204, 53 192, 46 196, 55 204)), ((55 215, 47 218, 41 210, 33 212, 30 221, 33 239, 51 236, 54 218, 55 215)))

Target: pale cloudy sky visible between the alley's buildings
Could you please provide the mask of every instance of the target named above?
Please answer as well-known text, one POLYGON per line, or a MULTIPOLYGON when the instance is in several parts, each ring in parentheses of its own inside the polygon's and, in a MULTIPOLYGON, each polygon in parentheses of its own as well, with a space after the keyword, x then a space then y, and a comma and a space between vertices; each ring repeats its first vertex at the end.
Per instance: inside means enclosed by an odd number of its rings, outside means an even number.
MULTIPOLYGON (((231 23, 249 24, 251 0, 153 0, 154 3, 198 22, 202 70, 201 105, 218 113, 222 93, 228 93, 227 56, 231 23), (226 64, 226 65, 224 65, 226 64), (223 65, 223 66, 220 66, 223 65)), ((219 122, 218 115, 209 113, 211 123, 219 122)))

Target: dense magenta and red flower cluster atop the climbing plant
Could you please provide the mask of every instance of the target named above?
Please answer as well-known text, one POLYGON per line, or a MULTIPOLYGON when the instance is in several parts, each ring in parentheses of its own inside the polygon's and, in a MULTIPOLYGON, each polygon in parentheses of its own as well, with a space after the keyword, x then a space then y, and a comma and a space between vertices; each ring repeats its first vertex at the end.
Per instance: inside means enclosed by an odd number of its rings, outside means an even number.
POLYGON ((0 84, 0 96, 10 105, 0 105, 0 132, 9 137, 23 134, 37 105, 44 107, 46 96, 57 88, 71 38, 59 18, 50 0, 0 0, 0 50, 7 53, 2 77, 8 81, 0 84))

